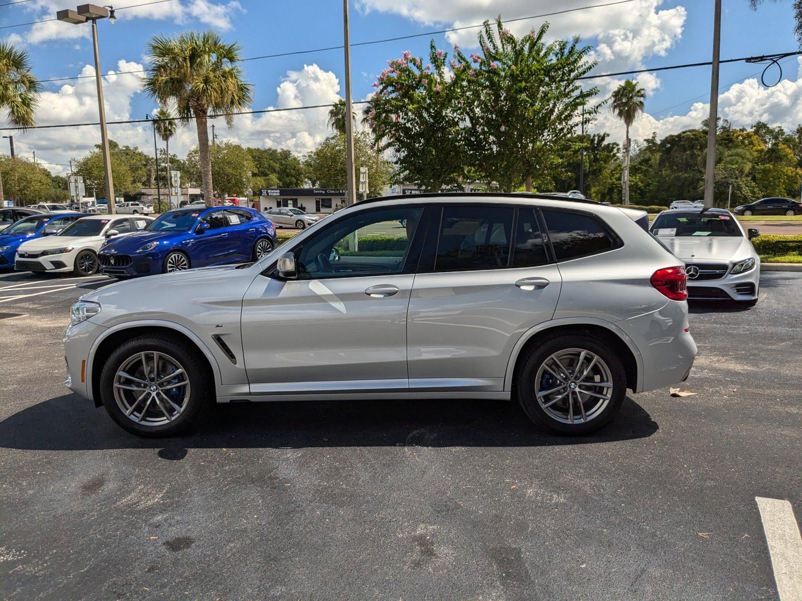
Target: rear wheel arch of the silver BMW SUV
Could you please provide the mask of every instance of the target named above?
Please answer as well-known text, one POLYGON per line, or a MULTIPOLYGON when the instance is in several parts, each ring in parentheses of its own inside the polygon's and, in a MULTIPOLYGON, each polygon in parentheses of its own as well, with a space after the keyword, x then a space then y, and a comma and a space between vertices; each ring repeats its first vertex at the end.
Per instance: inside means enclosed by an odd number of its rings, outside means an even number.
POLYGON ((536 325, 520 337, 508 361, 504 376, 504 391, 512 392, 512 384, 519 366, 518 360, 527 350, 546 337, 565 333, 589 333, 606 341, 622 359, 626 387, 633 391, 638 390, 639 383, 643 381, 643 360, 634 341, 622 329, 610 321, 601 319, 559 319, 536 325))

